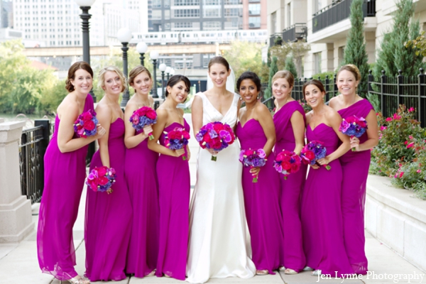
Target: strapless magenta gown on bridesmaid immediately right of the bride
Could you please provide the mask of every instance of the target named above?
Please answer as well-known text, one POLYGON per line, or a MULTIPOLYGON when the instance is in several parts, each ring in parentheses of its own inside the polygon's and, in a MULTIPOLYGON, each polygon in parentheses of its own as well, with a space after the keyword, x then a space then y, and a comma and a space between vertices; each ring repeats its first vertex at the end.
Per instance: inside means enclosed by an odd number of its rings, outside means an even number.
MULTIPOLYGON (((259 121, 249 119, 241 126, 236 126, 236 136, 241 149, 257 150, 266 144, 266 136, 259 121)), ((257 270, 273 271, 283 265, 283 217, 280 210, 280 176, 273 168, 275 155, 270 153, 266 165, 258 174, 258 182, 249 167, 243 168, 244 204, 246 206, 247 224, 251 236, 252 260, 257 270)))

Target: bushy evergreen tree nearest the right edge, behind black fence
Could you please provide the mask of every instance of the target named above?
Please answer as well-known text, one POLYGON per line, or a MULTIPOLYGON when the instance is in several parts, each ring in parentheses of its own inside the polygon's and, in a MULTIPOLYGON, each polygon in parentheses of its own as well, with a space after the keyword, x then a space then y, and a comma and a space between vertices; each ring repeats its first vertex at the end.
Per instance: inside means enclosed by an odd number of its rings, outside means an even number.
POLYGON ((392 30, 383 36, 378 52, 375 77, 381 76, 381 70, 385 70, 388 76, 398 75, 398 70, 403 70, 405 76, 415 76, 422 67, 422 56, 416 55, 412 48, 405 47, 408 40, 420 35, 419 22, 413 19, 413 0, 400 0, 396 7, 392 30))

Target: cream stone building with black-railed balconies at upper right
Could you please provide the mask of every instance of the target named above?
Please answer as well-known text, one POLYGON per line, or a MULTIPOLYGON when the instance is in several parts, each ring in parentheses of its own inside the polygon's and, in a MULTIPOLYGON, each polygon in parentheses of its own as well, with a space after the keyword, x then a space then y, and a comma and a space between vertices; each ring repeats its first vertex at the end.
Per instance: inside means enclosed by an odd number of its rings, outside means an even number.
MULTIPOLYGON (((305 38, 310 51, 303 60, 303 77, 320 72, 334 72, 344 58, 352 0, 268 0, 269 45, 277 39, 295 41, 305 38)), ((391 28, 392 13, 398 0, 366 0, 364 31, 368 63, 376 61, 376 50, 383 34, 391 28)), ((426 30, 426 1, 414 0, 415 18, 426 30)))

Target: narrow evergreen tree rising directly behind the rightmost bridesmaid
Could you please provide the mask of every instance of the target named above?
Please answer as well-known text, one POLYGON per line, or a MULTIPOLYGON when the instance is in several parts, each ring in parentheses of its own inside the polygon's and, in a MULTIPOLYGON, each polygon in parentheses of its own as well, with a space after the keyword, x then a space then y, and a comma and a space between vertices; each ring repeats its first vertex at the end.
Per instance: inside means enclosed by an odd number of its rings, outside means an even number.
POLYGON ((342 65, 353 64, 361 72, 361 84, 358 89, 361 91, 361 97, 366 97, 368 80, 368 55, 366 52, 366 43, 364 40, 364 16, 362 6, 364 0, 354 0, 351 4, 351 29, 346 39, 346 48, 344 49, 344 60, 342 65), (362 92, 364 91, 364 92, 362 92))

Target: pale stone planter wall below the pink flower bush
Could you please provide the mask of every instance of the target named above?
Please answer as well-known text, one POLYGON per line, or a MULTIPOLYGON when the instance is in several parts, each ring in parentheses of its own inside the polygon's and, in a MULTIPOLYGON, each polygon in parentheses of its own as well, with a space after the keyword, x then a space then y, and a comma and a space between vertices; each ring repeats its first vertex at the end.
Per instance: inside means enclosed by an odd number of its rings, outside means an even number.
POLYGON ((426 271, 426 201, 395 188, 391 178, 368 175, 366 229, 394 251, 426 271))

